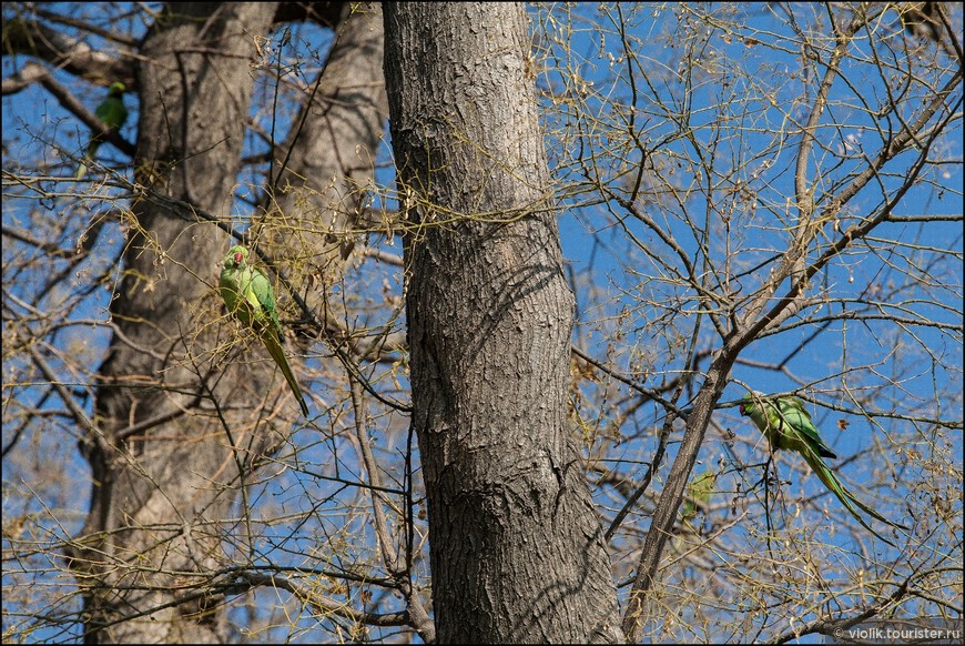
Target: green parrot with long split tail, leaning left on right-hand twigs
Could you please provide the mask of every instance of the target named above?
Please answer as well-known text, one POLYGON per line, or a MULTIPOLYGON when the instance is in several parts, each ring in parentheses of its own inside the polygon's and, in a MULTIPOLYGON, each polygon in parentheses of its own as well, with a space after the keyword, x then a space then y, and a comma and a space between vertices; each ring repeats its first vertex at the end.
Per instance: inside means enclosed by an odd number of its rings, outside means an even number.
POLYGON ((741 403, 741 415, 751 418, 754 425, 768 438, 773 450, 786 448, 800 453, 804 462, 811 467, 811 471, 817 474, 817 478, 841 501, 864 528, 888 545, 894 545, 891 541, 872 529, 871 525, 859 515, 857 508, 892 527, 897 527, 898 529, 907 529, 907 527, 892 523, 857 499, 853 493, 841 484, 841 481, 837 480, 822 460, 822 457, 836 458, 837 456, 821 440, 821 435, 817 433, 817 428, 814 427, 811 414, 807 413, 804 403, 798 397, 790 396, 778 397, 776 400, 771 397, 772 401, 768 400, 766 395, 756 391, 753 394, 746 395, 741 403))

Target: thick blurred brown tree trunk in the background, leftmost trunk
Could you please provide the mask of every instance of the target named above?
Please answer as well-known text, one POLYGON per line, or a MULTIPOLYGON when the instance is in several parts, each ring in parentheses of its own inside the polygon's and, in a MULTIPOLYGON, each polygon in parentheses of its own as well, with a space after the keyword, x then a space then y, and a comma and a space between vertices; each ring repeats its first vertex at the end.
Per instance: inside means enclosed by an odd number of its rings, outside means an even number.
POLYGON ((88 436, 95 484, 87 548, 72 563, 88 600, 88 642, 224 639, 212 599, 194 594, 204 582, 187 573, 220 563, 216 522, 228 516, 245 471, 231 444, 258 455, 271 442, 243 422, 264 402, 274 371, 264 362, 225 367, 215 349, 231 347, 235 327, 213 285, 228 238, 158 195, 231 213, 248 65, 274 11, 273 3, 172 4, 144 40, 136 176, 153 194, 132 205, 111 307, 118 334, 88 436))

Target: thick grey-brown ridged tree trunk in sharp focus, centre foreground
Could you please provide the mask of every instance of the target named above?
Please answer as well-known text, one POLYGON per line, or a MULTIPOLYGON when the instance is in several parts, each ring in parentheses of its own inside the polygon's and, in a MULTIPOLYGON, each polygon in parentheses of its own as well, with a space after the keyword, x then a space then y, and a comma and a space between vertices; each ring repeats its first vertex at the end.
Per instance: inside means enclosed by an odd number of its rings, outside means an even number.
POLYGON ((414 423, 443 643, 621 640, 567 426, 573 302, 514 3, 389 3, 414 423))

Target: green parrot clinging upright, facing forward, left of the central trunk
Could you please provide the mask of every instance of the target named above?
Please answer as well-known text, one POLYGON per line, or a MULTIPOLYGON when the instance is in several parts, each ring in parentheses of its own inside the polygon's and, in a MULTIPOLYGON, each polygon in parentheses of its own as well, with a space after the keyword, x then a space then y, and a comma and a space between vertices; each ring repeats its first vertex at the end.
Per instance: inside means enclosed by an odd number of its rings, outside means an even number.
POLYGON ((247 260, 248 251, 244 246, 236 244, 231 248, 231 251, 224 256, 224 269, 221 270, 219 291, 221 291, 227 311, 254 330, 264 342, 265 347, 268 349, 268 354, 282 369, 282 374, 292 386, 292 392, 298 400, 302 413, 307 417, 308 406, 305 404, 302 388, 298 387, 295 375, 292 374, 288 360, 285 359, 285 350, 282 347, 285 336, 282 332, 282 324, 278 322, 278 313, 275 311, 275 293, 272 290, 272 283, 268 282, 265 272, 250 265, 247 260))

